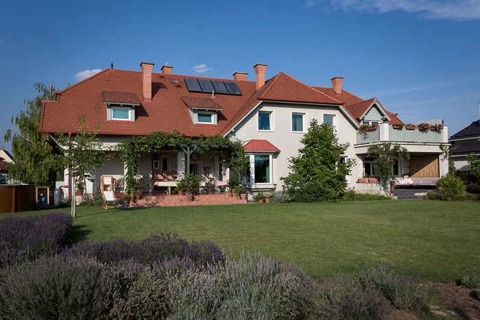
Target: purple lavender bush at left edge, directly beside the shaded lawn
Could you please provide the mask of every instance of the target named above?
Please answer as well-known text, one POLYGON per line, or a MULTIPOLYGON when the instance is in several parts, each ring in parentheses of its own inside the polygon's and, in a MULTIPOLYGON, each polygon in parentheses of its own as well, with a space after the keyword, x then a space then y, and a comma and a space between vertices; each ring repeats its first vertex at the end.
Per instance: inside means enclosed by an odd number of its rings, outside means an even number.
POLYGON ((71 228, 71 217, 61 213, 1 219, 0 267, 58 253, 67 243, 71 228))

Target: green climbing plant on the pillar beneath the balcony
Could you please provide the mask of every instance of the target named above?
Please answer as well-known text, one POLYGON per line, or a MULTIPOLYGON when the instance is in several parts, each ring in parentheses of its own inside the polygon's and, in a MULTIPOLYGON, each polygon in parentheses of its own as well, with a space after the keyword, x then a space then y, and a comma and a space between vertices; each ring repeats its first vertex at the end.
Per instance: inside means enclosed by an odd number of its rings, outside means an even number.
POLYGON ((410 153, 407 149, 400 145, 392 145, 391 143, 383 143, 381 145, 372 145, 368 147, 368 156, 376 155, 374 165, 375 175, 379 178, 380 188, 390 194, 390 182, 395 177, 394 175, 394 158, 410 158, 410 153))

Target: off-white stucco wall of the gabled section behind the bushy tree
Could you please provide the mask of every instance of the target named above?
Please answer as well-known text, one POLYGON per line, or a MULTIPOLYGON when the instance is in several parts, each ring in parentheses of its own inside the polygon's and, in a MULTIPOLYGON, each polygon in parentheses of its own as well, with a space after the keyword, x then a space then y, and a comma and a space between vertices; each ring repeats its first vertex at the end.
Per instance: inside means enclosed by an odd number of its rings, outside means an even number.
POLYGON ((285 177, 289 174, 289 158, 298 156, 298 149, 302 147, 300 140, 304 136, 304 133, 291 131, 292 112, 305 114, 304 132, 307 131, 312 119, 317 119, 319 123, 322 123, 324 114, 335 115, 335 129, 337 130, 339 143, 350 143, 350 147, 348 147, 345 156, 357 160, 357 165, 352 170, 352 177, 348 177, 350 186, 354 186, 362 170, 359 158, 355 154, 353 147, 353 143, 355 143, 357 139, 357 130, 337 107, 263 102, 259 108, 250 113, 249 116, 235 127, 235 132, 232 132, 230 136, 235 136, 244 143, 252 139, 268 140, 280 149, 280 153, 274 155, 272 164, 272 182, 276 184, 276 188, 279 188, 282 186, 280 177, 285 177), (258 129, 259 111, 272 112, 271 132, 264 132, 258 129))

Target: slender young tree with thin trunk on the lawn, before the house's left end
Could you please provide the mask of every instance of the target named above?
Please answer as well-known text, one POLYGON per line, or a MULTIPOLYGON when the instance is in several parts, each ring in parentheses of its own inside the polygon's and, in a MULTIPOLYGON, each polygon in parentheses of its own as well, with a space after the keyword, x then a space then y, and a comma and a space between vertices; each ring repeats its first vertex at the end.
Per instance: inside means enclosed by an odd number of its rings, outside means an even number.
MULTIPOLYGON (((99 143, 98 125, 93 132, 88 132, 84 116, 79 117, 80 127, 75 136, 69 137, 63 132, 58 134, 56 141, 60 147, 57 162, 60 167, 68 169, 72 177, 71 190, 76 189, 77 182, 95 179, 95 169, 103 167, 110 158, 99 143)), ((75 197, 71 201, 71 216, 75 218, 75 197)))

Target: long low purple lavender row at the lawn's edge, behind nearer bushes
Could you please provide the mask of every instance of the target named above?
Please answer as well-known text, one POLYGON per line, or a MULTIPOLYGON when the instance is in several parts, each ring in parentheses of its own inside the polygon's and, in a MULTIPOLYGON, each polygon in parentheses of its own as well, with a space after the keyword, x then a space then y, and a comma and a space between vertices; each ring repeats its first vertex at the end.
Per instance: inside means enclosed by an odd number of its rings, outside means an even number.
POLYGON ((176 234, 152 235, 141 241, 117 239, 79 243, 64 254, 73 256, 84 254, 106 263, 134 260, 143 264, 161 263, 175 257, 187 257, 197 265, 206 265, 225 258, 217 245, 210 241, 189 243, 176 234))

